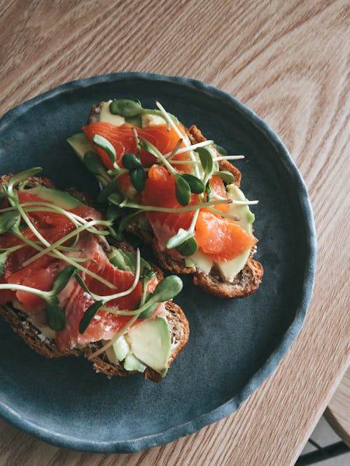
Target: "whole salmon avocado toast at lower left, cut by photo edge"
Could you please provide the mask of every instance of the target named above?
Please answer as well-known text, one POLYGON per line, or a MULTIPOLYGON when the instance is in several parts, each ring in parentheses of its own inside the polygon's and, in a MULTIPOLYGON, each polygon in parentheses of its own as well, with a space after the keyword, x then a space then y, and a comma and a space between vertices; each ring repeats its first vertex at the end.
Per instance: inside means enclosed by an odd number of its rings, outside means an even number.
POLYGON ((171 300, 181 280, 110 240, 86 195, 40 171, 0 178, 0 313, 48 358, 83 355, 107 376, 160 381, 188 340, 171 300))

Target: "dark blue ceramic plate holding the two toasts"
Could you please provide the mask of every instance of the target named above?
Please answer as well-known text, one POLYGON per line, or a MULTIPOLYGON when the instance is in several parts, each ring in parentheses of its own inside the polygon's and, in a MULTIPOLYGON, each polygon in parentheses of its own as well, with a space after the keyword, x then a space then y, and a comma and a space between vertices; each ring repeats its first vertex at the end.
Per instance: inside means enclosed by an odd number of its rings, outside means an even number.
POLYGON ((47 360, 1 323, 0 414, 57 446, 132 452, 165 444, 227 416, 267 379, 300 332, 316 263, 304 182, 278 136, 230 95, 186 78, 120 73, 74 81, 31 99, 0 122, 1 174, 41 166, 60 188, 97 193, 66 143, 92 104, 113 97, 158 99, 208 139, 244 154, 242 189, 254 206, 260 288, 218 299, 189 277, 176 297, 190 322, 185 350, 159 384, 141 374, 109 380, 78 358, 47 360))

